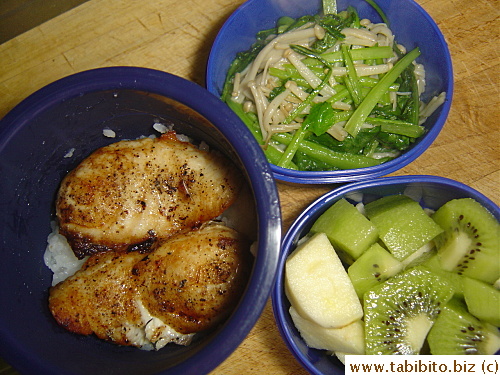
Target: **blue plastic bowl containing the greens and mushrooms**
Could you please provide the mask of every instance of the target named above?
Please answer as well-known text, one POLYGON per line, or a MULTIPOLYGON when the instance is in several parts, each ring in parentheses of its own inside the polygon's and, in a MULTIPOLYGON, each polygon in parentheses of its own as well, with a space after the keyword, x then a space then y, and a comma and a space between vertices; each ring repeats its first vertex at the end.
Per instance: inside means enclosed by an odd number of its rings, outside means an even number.
MULTIPOLYGON (((423 95, 428 101, 445 91, 446 102, 425 122, 428 132, 401 156, 382 165, 340 171, 301 172, 271 165, 278 180, 305 183, 342 183, 368 180, 397 171, 420 156, 436 139, 448 116, 453 94, 453 68, 446 41, 432 18, 413 0, 377 0, 387 15, 398 43, 408 50, 420 47, 427 74, 427 88, 423 95)), ((338 0, 338 9, 354 6, 362 18, 381 22, 375 10, 364 0, 338 0)), ((320 0, 248 0, 224 23, 213 44, 208 59, 206 86, 220 97, 229 65, 236 54, 247 50, 260 30, 274 27, 281 16, 299 17, 317 14, 320 0)))

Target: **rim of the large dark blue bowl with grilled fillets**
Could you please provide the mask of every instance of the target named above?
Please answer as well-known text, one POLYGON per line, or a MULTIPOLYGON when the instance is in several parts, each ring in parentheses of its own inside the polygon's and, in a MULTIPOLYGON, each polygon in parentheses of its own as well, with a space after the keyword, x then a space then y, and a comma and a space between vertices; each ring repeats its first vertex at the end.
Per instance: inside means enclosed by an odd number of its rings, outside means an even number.
MULTIPOLYGON (((69 97, 103 90, 138 90, 152 92, 178 101, 205 117, 234 146, 245 167, 253 190, 258 217, 258 248, 265 249, 255 258, 249 284, 239 305, 224 323, 219 334, 210 339, 188 361, 162 373, 200 374, 221 364, 244 340, 260 317, 274 285, 281 241, 279 196, 265 156, 241 120, 215 95, 202 86, 171 73, 143 67, 113 66, 90 69, 58 79, 37 90, 0 119, 0 151, 16 131, 31 118, 69 97), (200 100, 201 98, 201 100, 200 100), (214 110, 215 109, 215 110, 214 110), (238 131, 234 131, 239 127, 238 131)), ((40 260, 42 260, 42 254, 40 260)), ((0 331, 7 327, 0 325, 0 331)), ((50 364, 21 350, 10 335, 0 335, 5 360, 26 372, 50 373, 50 364), (16 350, 17 347, 17 350, 16 350)))

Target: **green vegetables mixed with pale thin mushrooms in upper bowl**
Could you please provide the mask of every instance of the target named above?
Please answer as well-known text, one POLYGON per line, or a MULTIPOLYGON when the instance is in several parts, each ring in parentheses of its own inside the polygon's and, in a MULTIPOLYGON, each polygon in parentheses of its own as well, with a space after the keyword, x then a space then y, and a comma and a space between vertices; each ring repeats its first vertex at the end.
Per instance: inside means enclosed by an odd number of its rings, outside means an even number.
MULTIPOLYGON (((388 24, 374 0, 365 1, 388 24)), ((426 133, 414 65, 419 48, 404 54, 392 40, 351 46, 346 28, 369 33, 356 9, 338 12, 336 0, 323 0, 322 14, 281 17, 231 64, 221 98, 272 164, 308 171, 379 165, 426 133), (264 49, 277 36, 276 48, 264 49)))

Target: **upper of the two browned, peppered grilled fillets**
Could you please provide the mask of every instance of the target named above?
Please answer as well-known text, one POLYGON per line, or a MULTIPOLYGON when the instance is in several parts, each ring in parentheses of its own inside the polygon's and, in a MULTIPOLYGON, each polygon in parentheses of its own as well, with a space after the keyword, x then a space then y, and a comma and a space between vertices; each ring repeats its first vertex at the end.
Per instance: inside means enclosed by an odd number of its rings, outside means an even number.
POLYGON ((83 258, 108 250, 148 251, 168 237, 220 215, 242 183, 221 155, 160 138, 121 141, 95 151, 63 180, 60 233, 83 258))

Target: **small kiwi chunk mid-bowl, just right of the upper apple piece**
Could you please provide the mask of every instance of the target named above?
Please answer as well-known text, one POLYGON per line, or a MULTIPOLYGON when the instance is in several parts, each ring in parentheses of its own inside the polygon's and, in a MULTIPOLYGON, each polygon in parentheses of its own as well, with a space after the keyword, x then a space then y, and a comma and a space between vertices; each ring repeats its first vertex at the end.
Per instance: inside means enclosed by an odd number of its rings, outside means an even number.
POLYGON ((347 269, 354 289, 359 298, 368 289, 394 276, 403 269, 399 260, 394 258, 378 243, 374 243, 347 269))

